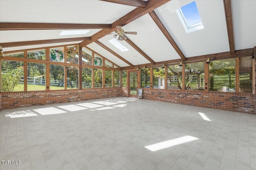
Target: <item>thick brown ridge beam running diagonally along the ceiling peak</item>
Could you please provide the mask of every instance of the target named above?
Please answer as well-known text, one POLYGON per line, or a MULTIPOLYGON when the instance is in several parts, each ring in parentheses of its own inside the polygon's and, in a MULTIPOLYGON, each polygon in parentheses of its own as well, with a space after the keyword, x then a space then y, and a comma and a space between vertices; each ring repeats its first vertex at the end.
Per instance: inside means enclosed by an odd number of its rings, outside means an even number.
POLYGON ((80 47, 85 47, 86 45, 102 38, 105 36, 105 34, 112 33, 116 30, 116 26, 118 25, 126 25, 141 16, 144 16, 145 14, 148 14, 148 12, 151 12, 152 10, 158 8, 159 6, 162 6, 163 4, 166 4, 170 0, 148 0, 147 6, 145 8, 136 8, 135 10, 129 12, 119 20, 112 23, 112 26, 110 29, 102 29, 98 33, 94 34, 90 40, 85 40, 82 43, 80 43, 80 47))

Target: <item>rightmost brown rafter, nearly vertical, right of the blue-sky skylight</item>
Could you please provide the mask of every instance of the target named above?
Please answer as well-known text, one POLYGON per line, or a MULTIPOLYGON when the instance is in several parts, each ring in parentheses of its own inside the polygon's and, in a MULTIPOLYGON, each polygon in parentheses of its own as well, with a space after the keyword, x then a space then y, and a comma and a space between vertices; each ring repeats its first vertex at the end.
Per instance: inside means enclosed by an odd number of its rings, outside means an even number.
POLYGON ((232 12, 231 12, 231 0, 223 0, 225 16, 226 16, 226 24, 228 30, 228 42, 230 53, 235 53, 235 45, 234 45, 234 33, 233 33, 233 22, 232 22, 232 12))

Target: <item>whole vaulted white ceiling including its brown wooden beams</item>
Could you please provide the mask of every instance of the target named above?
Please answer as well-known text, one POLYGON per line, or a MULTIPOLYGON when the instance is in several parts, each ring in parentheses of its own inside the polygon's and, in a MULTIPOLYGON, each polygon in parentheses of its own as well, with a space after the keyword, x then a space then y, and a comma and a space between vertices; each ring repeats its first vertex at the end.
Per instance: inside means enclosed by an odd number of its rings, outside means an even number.
POLYGON ((196 0, 204 29, 186 33, 176 10, 193 1, 0 0, 0 45, 6 53, 79 43, 123 68, 253 54, 255 0, 196 0), (120 41, 129 51, 108 42, 117 25, 137 32, 120 41), (73 29, 90 31, 59 35, 73 29))

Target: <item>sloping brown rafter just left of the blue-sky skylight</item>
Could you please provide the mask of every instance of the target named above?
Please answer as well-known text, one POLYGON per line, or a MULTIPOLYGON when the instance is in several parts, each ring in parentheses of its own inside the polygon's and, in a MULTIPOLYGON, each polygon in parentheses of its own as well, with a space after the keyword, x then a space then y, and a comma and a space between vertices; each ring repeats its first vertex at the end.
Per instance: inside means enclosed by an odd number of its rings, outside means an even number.
POLYGON ((160 30, 162 31, 162 33, 164 34, 164 36, 168 39, 168 41, 171 43, 172 47, 176 50, 176 52, 180 55, 180 58, 183 61, 186 61, 186 57, 184 56, 184 54, 182 53, 182 51, 180 50, 180 48, 178 47, 178 45, 176 44, 176 42, 174 41, 174 39, 172 38, 172 36, 169 34, 169 32, 167 31, 167 29, 164 27, 164 24, 161 22, 161 20, 158 18, 158 16, 156 15, 156 13, 154 11, 149 12, 148 14, 150 14, 150 16, 152 17, 152 19, 155 21, 156 25, 160 28, 160 30))

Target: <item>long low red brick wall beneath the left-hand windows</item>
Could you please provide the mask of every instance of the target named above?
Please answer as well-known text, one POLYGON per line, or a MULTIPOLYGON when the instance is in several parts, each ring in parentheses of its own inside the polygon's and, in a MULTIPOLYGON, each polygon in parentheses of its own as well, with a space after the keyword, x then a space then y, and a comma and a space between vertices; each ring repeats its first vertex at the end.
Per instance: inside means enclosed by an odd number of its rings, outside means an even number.
POLYGON ((83 90, 55 90, 40 92, 11 92, 1 94, 2 109, 37 106, 54 103, 76 102, 121 96, 120 88, 98 88, 83 90))

